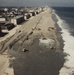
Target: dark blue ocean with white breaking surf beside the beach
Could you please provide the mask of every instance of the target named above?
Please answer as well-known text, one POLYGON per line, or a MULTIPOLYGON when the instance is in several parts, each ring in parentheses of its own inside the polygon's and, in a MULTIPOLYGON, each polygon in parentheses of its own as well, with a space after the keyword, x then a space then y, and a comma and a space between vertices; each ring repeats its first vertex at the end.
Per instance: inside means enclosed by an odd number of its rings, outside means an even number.
POLYGON ((53 7, 53 13, 61 28, 63 52, 67 54, 59 75, 74 75, 74 7, 53 7))

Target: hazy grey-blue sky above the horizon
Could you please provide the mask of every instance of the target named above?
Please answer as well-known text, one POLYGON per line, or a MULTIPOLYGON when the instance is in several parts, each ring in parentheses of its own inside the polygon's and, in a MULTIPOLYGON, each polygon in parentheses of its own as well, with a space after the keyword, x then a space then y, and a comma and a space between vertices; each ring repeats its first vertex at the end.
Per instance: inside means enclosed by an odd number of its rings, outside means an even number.
POLYGON ((74 0, 0 0, 0 6, 72 6, 74 0))

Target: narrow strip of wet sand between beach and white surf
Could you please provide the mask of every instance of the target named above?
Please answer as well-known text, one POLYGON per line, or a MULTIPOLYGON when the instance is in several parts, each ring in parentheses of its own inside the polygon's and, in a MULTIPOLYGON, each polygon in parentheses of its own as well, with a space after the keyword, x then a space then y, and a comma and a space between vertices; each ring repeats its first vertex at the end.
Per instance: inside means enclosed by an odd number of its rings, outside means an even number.
MULTIPOLYGON (((61 53, 62 53, 62 56, 63 56, 63 64, 62 64, 62 67, 61 67, 61 69, 63 68, 63 65, 64 65, 64 63, 66 62, 66 59, 65 59, 65 57, 67 56, 67 54, 66 53, 64 53, 64 40, 63 40, 63 37, 62 37, 62 29, 59 27, 59 25, 57 24, 57 22, 58 22, 58 20, 57 20, 57 17, 56 17, 56 15, 55 14, 53 14, 52 15, 52 19, 55 21, 55 26, 56 26, 56 29, 57 29, 57 32, 56 32, 56 34, 57 34, 57 37, 58 37, 58 41, 60 42, 60 45, 61 45, 61 47, 60 47, 60 49, 61 49, 61 53)), ((60 70, 61 70, 60 69, 60 70)), ((60 70, 59 70, 59 74, 60 74, 60 70)))

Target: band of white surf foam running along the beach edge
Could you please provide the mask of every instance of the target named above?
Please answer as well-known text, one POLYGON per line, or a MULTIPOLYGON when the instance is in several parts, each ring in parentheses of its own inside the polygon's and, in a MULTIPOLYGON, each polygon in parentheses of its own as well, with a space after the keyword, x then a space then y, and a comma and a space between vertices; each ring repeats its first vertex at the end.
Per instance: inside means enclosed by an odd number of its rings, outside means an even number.
POLYGON ((69 54, 65 57, 66 62, 61 68, 59 75, 74 75, 74 37, 69 33, 67 24, 60 19, 60 17, 54 12, 58 19, 58 26, 62 29, 62 37, 64 40, 64 52, 69 54))

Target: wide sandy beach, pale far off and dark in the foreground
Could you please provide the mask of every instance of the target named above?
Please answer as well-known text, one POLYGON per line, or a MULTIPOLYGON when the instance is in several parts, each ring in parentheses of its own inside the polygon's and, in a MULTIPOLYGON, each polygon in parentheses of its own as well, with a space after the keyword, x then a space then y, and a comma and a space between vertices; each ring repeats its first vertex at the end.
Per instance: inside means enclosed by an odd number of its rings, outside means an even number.
POLYGON ((0 65, 0 75, 59 75, 64 64, 59 41, 62 39, 52 19, 51 8, 23 23, 18 31, 21 32, 9 39, 6 51, 0 55, 6 58, 0 61, 4 64, 4 67, 0 65))

